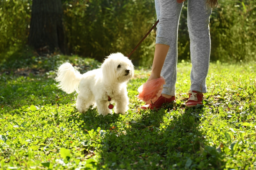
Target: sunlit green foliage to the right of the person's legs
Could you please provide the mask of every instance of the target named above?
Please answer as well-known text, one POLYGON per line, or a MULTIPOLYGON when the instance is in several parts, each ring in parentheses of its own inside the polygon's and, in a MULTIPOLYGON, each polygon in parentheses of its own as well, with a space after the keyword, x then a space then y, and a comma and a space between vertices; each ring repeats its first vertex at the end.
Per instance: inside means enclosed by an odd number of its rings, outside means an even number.
POLYGON ((256 60, 256 0, 221 0, 212 13, 212 60, 256 60))

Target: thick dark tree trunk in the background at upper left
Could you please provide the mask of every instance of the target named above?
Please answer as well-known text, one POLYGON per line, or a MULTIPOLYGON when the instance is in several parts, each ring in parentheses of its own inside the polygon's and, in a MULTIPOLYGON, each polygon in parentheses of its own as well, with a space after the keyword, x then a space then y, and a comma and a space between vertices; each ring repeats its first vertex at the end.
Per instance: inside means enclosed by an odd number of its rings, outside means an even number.
POLYGON ((61 0, 33 0, 28 44, 40 53, 66 54, 61 0))

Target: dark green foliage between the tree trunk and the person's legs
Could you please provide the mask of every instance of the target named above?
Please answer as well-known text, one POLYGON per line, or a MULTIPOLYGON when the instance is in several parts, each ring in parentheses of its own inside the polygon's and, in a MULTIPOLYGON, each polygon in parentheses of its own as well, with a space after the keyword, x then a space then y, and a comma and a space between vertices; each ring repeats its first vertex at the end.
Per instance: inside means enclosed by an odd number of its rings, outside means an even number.
MULTIPOLYGON (((156 22, 152 0, 72 0, 64 4, 69 50, 98 60, 114 52, 129 55, 156 22)), ((144 58, 152 58, 154 37, 151 33, 131 59, 145 63, 144 58)))

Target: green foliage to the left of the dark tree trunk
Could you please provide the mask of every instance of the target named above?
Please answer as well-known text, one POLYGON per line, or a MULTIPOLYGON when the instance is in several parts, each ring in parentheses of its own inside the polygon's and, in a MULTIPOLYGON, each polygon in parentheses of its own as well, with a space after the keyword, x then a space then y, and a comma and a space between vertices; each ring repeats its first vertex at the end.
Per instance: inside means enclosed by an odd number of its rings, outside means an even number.
POLYGON ((32 0, 0 0, 0 54, 27 43, 32 0))

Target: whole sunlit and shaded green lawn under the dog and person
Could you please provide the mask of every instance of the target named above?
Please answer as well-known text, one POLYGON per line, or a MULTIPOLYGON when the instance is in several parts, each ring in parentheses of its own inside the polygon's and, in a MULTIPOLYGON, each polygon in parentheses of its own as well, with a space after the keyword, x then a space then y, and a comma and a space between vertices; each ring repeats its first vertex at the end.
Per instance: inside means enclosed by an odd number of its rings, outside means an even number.
POLYGON ((256 169, 256 63, 211 63, 204 107, 194 109, 181 101, 190 63, 178 64, 177 103, 159 111, 140 110, 150 70, 135 70, 129 113, 103 117, 79 113, 77 94, 56 88, 67 59, 82 72, 98 64, 61 55, 1 63, 1 169, 256 169))

